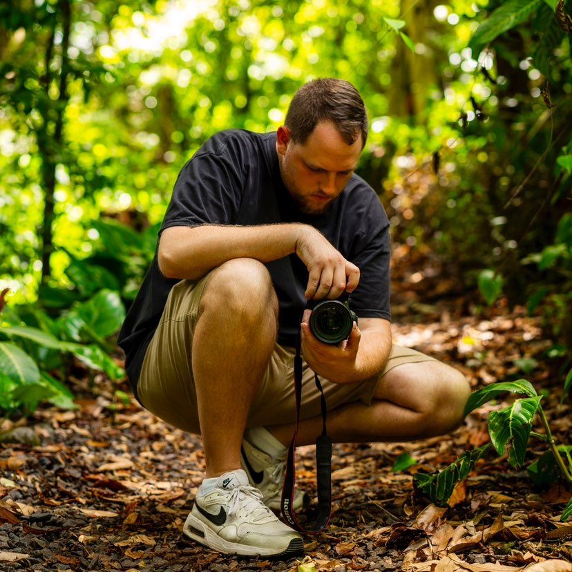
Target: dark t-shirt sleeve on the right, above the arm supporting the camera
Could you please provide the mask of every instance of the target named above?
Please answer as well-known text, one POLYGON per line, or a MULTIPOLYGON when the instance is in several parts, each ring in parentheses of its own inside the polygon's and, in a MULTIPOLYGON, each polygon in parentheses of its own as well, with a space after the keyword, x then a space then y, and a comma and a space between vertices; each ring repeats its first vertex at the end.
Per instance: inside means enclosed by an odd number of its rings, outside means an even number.
POLYGON ((354 254, 350 257, 360 269, 359 285, 352 294, 350 307, 358 317, 391 320, 390 225, 376 196, 365 221, 365 232, 356 236, 354 254))

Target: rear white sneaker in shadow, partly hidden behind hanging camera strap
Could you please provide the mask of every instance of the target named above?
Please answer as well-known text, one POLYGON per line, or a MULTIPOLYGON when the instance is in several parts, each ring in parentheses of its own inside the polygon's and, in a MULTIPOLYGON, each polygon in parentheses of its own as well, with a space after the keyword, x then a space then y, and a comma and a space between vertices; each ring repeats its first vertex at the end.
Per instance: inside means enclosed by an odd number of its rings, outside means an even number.
MULTIPOLYGON (((284 475, 288 450, 271 457, 260 450, 246 438, 242 439, 240 448, 240 464, 248 475, 249 482, 263 493, 264 504, 274 511, 280 511, 284 475)), ((294 490, 294 511, 299 511, 309 504, 307 493, 296 488, 294 490)))

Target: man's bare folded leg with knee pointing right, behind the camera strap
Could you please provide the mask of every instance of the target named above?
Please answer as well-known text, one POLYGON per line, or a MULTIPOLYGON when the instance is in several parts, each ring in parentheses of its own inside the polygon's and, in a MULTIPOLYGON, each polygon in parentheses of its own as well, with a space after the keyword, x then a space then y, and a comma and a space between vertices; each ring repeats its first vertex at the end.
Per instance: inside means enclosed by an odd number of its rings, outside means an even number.
MULTIPOLYGON (((327 432, 334 443, 412 441, 443 435, 463 421, 470 394, 461 372, 435 361, 397 365, 383 376, 370 406, 354 401, 327 412, 327 432)), ((267 426, 289 446, 294 425, 267 426)), ((299 446, 312 445, 322 432, 322 417, 301 421, 299 446)))

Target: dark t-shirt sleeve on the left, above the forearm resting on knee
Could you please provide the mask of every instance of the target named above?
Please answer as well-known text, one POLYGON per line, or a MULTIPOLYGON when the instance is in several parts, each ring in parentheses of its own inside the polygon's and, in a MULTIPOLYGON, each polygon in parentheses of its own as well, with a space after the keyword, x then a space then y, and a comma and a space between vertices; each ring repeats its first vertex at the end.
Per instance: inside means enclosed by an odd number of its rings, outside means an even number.
POLYGON ((159 233, 169 227, 233 224, 245 187, 239 165, 226 153, 194 155, 179 173, 159 233))

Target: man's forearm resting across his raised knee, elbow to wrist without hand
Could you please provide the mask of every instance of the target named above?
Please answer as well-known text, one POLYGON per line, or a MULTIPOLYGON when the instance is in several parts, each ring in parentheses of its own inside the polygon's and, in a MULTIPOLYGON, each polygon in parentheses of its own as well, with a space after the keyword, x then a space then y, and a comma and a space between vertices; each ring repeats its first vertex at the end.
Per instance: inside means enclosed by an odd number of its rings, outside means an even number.
POLYGON ((167 278, 196 280, 227 260, 254 258, 262 263, 296 251, 305 225, 256 227, 204 225, 171 227, 159 244, 159 267, 167 278))

